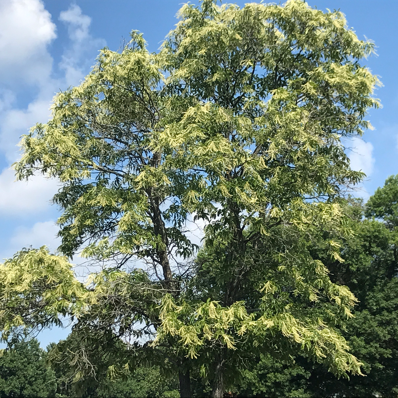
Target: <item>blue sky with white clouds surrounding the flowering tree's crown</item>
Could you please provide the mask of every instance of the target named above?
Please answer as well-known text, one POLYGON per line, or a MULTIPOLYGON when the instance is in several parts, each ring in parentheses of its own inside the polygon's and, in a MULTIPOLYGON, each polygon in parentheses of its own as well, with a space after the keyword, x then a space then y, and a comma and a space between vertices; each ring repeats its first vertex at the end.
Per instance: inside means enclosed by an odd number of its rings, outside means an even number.
MULTIPOLYGON (((243 1, 237 2, 243 6, 243 1)), ((181 0, 0 0, 0 258, 22 247, 58 246, 57 209, 49 200, 57 182, 41 176, 28 184, 14 182, 10 165, 18 159, 19 137, 36 122, 45 122, 55 92, 76 85, 90 71, 98 49, 117 50, 131 29, 144 33, 156 51, 176 23, 181 0)), ((340 9, 360 38, 375 41, 377 56, 363 63, 384 84, 376 96, 382 109, 368 116, 375 127, 350 146, 353 168, 367 173, 369 197, 391 174, 398 173, 398 2, 314 0, 321 10, 340 9)), ((42 344, 67 331, 41 335, 42 344)))

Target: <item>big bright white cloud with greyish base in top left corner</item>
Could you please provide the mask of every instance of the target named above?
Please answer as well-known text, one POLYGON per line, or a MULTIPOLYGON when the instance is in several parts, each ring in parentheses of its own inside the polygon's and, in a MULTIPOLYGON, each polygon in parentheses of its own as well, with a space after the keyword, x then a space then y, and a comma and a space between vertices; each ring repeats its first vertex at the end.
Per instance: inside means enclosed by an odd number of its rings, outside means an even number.
POLYGON ((57 37, 39 0, 0 0, 0 80, 40 83, 51 73, 47 45, 57 37))

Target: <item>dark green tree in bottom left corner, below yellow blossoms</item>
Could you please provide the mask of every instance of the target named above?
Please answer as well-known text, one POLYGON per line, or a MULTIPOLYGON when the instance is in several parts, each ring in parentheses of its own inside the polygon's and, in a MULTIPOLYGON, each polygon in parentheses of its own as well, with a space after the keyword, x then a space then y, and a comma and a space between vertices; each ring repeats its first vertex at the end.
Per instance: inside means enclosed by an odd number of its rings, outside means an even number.
POLYGON ((0 357, 1 397, 53 397, 57 384, 36 339, 15 343, 0 357))

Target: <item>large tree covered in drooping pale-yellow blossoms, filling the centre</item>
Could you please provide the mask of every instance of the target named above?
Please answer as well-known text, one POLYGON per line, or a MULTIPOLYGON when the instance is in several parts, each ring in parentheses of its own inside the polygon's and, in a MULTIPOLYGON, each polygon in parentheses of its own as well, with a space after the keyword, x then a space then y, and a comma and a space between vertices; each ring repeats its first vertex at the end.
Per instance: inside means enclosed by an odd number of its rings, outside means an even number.
MULTIPOLYGON (((359 63, 373 45, 340 12, 297 0, 242 9, 204 0, 179 19, 158 53, 135 31, 120 53, 103 49, 82 84, 57 94, 49 122, 22 139, 18 178, 42 172, 61 183, 60 252, 105 268, 86 293, 65 283, 62 305, 40 293, 43 310, 55 320, 81 303, 74 333, 156 337, 179 369, 181 396, 190 371, 210 368, 222 396, 236 371, 229 356, 250 347, 303 349, 335 373, 359 373, 336 327, 355 297, 306 240, 322 229, 350 234, 335 199, 363 174, 350 170, 340 137, 361 135, 378 105, 378 80, 359 63), (207 224, 214 295, 192 289, 190 220, 207 224), (282 227, 294 250, 273 238, 282 227), (256 263, 258 248, 272 255, 256 263)), ((327 246, 340 261, 338 242, 327 246)), ((18 289, 25 297, 31 285, 18 289)))

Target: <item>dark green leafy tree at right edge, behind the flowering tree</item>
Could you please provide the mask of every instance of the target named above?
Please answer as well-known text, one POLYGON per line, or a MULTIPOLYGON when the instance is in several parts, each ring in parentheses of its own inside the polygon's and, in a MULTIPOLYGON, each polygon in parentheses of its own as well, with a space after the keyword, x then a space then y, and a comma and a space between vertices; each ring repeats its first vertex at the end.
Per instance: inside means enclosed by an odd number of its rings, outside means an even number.
POLYGON ((365 206, 351 209, 355 236, 341 242, 345 263, 329 262, 332 278, 359 299, 343 332, 363 363, 366 378, 330 379, 322 369, 310 378, 322 396, 396 396, 398 341, 397 176, 389 177, 365 206), (366 218, 362 219, 365 216, 366 218), (376 216, 378 219, 375 219, 376 216))

